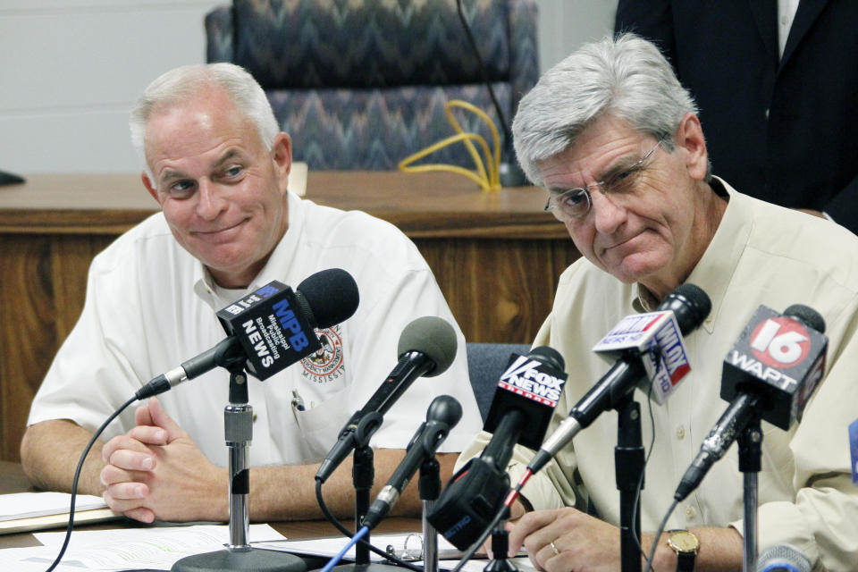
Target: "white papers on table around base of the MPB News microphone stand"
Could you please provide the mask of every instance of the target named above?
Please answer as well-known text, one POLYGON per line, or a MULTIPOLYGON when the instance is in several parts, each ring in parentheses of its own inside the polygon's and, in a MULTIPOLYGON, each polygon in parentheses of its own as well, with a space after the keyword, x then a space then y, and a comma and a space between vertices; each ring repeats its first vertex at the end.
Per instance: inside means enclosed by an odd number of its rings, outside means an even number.
MULTIPOLYGON (((45 546, 0 551, 0 569, 44 571, 54 561, 65 533, 35 534, 45 546)), ((272 541, 285 537, 268 525, 250 525, 250 542, 272 541)), ((74 531, 60 571, 102 570, 113 572, 129 568, 170 569, 186 556, 223 550, 229 543, 229 526, 158 526, 114 530, 74 531)))

